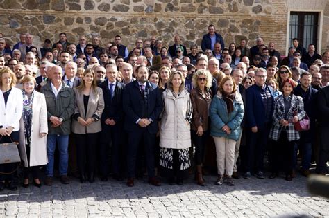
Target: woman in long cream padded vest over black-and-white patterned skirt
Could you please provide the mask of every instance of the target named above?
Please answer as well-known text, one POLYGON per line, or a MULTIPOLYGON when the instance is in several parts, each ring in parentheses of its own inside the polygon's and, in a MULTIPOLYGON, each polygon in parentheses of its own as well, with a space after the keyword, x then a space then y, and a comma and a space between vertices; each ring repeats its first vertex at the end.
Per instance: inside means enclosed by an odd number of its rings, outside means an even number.
POLYGON ((172 73, 163 92, 165 102, 160 125, 160 170, 169 178, 169 184, 183 185, 191 166, 190 122, 192 105, 185 89, 185 78, 180 71, 172 73))

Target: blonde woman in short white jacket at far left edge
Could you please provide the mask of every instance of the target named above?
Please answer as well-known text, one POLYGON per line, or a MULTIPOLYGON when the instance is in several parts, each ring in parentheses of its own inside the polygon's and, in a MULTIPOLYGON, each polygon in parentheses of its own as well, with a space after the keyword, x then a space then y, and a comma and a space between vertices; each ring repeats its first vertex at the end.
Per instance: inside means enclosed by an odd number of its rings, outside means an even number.
MULTIPOLYGON (((15 88, 16 76, 8 67, 0 70, 0 143, 19 141, 19 119, 22 117, 22 91, 15 88)), ((0 191, 17 190, 13 172, 16 163, 0 164, 0 191), (3 174, 4 173, 4 174, 3 174)))

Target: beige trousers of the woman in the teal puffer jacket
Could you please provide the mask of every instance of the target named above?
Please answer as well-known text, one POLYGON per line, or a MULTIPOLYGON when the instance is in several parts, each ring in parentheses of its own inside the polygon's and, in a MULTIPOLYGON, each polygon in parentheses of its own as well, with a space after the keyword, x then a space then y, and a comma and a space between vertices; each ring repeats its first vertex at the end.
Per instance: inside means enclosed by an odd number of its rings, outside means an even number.
POLYGON ((217 173, 232 176, 235 154, 235 140, 224 137, 215 137, 214 144, 216 146, 217 173))

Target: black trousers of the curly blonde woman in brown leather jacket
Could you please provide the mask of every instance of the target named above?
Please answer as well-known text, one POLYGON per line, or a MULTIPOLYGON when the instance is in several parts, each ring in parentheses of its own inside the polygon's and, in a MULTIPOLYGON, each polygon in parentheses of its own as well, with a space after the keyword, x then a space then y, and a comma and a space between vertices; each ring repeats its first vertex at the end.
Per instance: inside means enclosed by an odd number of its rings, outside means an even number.
POLYGON ((209 132, 203 131, 202 136, 198 136, 194 130, 191 130, 191 133, 192 141, 195 146, 194 161, 196 165, 201 165, 203 163, 203 159, 205 158, 205 146, 208 140, 209 132))

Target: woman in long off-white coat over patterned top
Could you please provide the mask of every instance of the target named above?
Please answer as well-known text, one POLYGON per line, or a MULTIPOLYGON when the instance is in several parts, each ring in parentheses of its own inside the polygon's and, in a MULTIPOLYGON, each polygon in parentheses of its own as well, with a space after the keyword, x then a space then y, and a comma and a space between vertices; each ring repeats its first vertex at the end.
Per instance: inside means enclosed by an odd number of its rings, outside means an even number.
POLYGON ((27 188, 30 172, 33 185, 40 187, 39 166, 47 164, 47 106, 44 94, 34 90, 35 78, 24 76, 23 115, 20 120, 19 153, 24 162, 24 183, 27 188))

